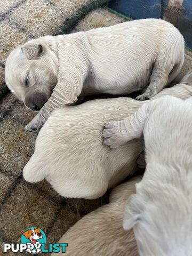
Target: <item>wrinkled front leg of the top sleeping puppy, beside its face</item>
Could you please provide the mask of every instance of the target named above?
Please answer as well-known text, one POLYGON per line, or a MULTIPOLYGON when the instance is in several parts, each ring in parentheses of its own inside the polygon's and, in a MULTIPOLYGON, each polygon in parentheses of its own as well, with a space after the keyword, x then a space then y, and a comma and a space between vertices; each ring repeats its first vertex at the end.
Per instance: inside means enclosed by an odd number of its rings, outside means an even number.
POLYGON ((67 55, 62 56, 61 54, 60 56, 65 61, 60 62, 58 83, 54 87, 50 99, 26 126, 27 130, 38 131, 54 109, 76 102, 81 94, 83 83, 89 71, 89 62, 85 58, 85 53, 79 51, 79 47, 71 45, 69 50, 67 55), (71 50, 71 54, 69 50, 71 50))

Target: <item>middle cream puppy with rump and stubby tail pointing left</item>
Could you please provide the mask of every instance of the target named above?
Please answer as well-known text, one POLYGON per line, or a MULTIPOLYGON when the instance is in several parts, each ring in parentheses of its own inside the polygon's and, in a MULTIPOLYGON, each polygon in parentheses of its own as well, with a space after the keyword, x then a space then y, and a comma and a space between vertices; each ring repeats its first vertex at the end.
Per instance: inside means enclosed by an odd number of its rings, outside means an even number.
MULTIPOLYGON (((192 86, 181 84, 156 95, 186 99, 192 86)), ((117 98, 87 101, 57 109, 38 134, 35 152, 23 169, 29 182, 46 179, 65 197, 97 198, 137 170, 142 139, 110 150, 103 146, 103 126, 135 113, 143 101, 117 98)))

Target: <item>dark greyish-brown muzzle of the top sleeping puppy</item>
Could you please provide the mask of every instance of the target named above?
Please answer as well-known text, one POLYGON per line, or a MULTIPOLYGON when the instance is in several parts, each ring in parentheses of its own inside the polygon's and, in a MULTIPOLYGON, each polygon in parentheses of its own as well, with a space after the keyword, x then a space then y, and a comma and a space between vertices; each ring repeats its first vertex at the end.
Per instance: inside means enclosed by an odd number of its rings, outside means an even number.
POLYGON ((48 98, 47 95, 41 92, 36 93, 28 93, 25 98, 25 105, 27 108, 38 111, 43 107, 43 105, 47 102, 48 98))

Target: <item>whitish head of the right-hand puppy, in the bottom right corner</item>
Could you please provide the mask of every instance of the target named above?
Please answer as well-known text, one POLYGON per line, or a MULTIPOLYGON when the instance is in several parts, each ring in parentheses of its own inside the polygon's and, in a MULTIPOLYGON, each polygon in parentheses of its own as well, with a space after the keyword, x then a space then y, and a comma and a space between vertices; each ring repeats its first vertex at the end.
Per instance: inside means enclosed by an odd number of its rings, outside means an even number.
POLYGON ((178 195, 169 198, 169 195, 162 197, 158 194, 154 200, 153 195, 149 197, 145 194, 135 194, 128 199, 123 227, 125 230, 133 228, 139 255, 190 254, 192 250, 192 244, 189 242, 192 239, 192 226, 189 224, 190 206, 187 205, 188 202, 185 202, 184 197, 178 198, 178 195))

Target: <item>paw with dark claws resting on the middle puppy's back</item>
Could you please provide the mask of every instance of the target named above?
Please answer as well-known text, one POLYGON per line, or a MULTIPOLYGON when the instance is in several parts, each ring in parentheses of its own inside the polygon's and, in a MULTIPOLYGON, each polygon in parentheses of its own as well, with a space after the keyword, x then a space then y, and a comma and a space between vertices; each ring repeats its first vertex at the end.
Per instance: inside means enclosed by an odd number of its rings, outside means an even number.
POLYGON ((103 132, 103 143, 110 148, 118 148, 119 146, 126 143, 126 139, 121 129, 121 121, 109 122, 104 126, 103 132))

